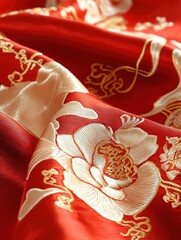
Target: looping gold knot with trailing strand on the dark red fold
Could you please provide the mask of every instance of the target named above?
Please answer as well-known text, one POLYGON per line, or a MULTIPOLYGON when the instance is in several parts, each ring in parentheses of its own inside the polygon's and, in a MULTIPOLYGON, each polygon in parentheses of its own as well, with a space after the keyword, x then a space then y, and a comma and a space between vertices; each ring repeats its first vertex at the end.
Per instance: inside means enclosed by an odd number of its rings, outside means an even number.
POLYGON ((151 72, 139 69, 139 65, 144 57, 146 47, 151 40, 147 39, 144 43, 141 54, 136 62, 136 68, 130 66, 119 66, 113 69, 110 65, 102 63, 93 63, 91 65, 91 73, 87 76, 85 83, 90 84, 87 88, 100 98, 109 98, 116 93, 128 93, 134 87, 138 75, 149 77, 151 72), (128 86, 124 86, 124 79, 119 76, 121 71, 133 73, 134 77, 128 86), (95 88, 94 88, 95 86, 95 88), (99 89, 98 89, 99 88, 99 89))

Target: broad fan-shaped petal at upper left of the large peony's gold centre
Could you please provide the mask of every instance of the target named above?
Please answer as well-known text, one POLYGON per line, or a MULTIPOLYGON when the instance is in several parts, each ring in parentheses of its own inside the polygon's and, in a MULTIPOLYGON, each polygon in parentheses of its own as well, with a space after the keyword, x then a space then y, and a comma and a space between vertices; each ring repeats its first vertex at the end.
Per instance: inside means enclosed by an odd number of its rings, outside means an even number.
POLYGON ((96 145, 103 140, 109 140, 112 136, 111 130, 104 125, 93 123, 80 128, 74 134, 74 140, 80 148, 84 157, 92 163, 93 153, 96 145))

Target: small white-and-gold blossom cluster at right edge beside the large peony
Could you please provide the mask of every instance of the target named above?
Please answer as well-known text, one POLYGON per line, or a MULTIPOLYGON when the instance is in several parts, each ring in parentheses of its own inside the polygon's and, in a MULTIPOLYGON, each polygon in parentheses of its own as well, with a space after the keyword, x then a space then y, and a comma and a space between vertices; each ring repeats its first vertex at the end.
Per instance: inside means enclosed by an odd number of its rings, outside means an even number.
POLYGON ((166 138, 168 143, 163 147, 164 153, 160 155, 161 167, 170 180, 181 174, 181 138, 166 138), (170 147, 168 147, 170 145, 170 147))

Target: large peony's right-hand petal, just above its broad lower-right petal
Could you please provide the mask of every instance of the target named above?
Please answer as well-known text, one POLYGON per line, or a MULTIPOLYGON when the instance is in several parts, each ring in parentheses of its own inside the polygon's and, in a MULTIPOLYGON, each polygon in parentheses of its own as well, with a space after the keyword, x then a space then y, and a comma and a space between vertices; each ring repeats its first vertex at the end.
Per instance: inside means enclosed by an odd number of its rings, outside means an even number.
POLYGON ((130 156, 134 160, 135 164, 141 164, 152 156, 158 149, 157 137, 149 135, 145 140, 138 146, 130 149, 130 156))

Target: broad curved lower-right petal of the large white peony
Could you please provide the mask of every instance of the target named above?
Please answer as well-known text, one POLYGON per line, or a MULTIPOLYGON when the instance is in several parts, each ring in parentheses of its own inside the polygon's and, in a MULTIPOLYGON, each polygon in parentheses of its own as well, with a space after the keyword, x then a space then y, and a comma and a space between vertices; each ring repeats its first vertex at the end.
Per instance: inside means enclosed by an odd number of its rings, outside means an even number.
POLYGON ((143 211, 157 194, 160 185, 160 174, 157 167, 146 162, 138 169, 138 179, 124 189, 125 199, 120 201, 120 209, 126 215, 143 211))

